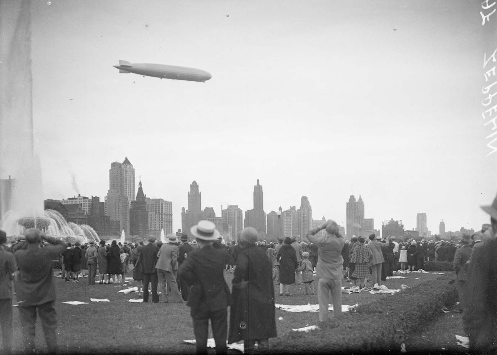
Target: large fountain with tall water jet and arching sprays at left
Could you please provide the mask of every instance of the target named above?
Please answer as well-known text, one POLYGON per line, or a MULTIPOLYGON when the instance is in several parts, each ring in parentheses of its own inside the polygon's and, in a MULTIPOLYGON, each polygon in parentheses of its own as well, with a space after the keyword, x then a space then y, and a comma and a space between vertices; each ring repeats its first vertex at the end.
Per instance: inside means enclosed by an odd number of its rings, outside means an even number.
POLYGON ((90 226, 44 210, 33 126, 30 8, 30 0, 0 1, 0 229, 10 240, 35 227, 71 242, 99 241, 90 226))

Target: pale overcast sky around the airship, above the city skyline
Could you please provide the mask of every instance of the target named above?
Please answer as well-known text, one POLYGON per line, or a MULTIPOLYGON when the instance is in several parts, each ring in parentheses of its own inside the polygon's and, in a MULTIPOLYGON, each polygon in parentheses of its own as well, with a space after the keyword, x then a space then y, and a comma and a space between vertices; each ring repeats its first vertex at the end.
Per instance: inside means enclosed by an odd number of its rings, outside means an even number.
MULTIPOLYGON (((478 5, 478 4, 477 4, 478 5)), ((444 1, 32 3, 36 150, 44 197, 99 196, 128 157, 144 193, 172 201, 193 180, 202 208, 300 206, 345 224, 361 194, 375 228, 479 228, 497 192, 481 112, 478 6, 444 1), (229 15, 229 16, 228 16, 229 15), (396 30, 394 30, 396 29, 396 30), (202 69, 205 83, 112 65, 202 69), (352 188, 353 186, 353 188, 352 188)))

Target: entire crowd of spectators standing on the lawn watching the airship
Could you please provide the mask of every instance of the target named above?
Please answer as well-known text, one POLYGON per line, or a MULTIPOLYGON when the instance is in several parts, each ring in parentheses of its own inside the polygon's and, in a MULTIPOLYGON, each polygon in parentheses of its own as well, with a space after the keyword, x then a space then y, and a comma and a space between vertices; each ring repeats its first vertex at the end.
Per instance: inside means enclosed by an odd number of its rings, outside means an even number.
POLYGON ((78 282, 88 273, 88 283, 125 283, 129 264, 134 264, 133 279, 143 302, 159 302, 158 287, 164 302, 184 302, 190 307, 198 354, 206 354, 209 321, 216 353, 226 354, 226 341, 244 341, 250 353, 257 344, 268 348, 268 339, 276 337, 274 285, 280 296, 289 296, 290 285, 301 283, 306 294, 318 294, 319 321, 328 319, 328 305, 333 304, 333 318, 341 318, 341 285, 354 280, 365 287, 381 285, 396 270, 412 271, 428 261, 453 263, 459 311, 463 312, 470 347, 476 351, 496 351, 497 346, 497 198, 483 207, 491 214, 491 224, 481 231, 464 235, 460 241, 443 240, 397 242, 395 237, 352 237, 339 233, 338 225, 328 220, 310 230, 307 242, 278 238, 277 243, 259 240, 252 227, 243 229, 238 243, 224 244, 215 224, 202 220, 190 234, 170 234, 162 243, 150 237, 148 243, 121 244, 116 240, 99 245, 89 241, 81 245, 65 243, 30 228, 10 247, 0 230, 0 324, 3 349, 12 344, 12 296, 15 289, 24 349, 34 351, 35 323, 40 318, 49 352, 57 350, 55 282, 52 265, 61 261, 61 280, 78 282), (326 230, 326 233, 319 233, 326 230), (179 238, 178 238, 179 237, 179 238), (87 271, 86 271, 87 270, 87 271), (225 272, 234 273, 232 289, 225 272), (317 279, 316 286, 314 282, 317 279), (151 284, 151 292, 149 292, 151 284), (143 290, 143 293, 142 293, 143 290), (228 306, 231 306, 228 324, 228 306))

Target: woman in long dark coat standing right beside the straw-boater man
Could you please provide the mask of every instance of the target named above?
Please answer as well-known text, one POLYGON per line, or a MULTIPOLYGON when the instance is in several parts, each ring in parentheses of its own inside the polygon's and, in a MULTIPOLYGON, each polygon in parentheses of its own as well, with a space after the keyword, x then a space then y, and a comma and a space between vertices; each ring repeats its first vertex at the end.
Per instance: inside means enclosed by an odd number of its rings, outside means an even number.
POLYGON ((252 227, 240 233, 240 250, 233 276, 228 343, 244 340, 246 353, 253 350, 255 342, 259 350, 266 349, 268 339, 276 337, 271 262, 265 250, 255 245, 257 235, 252 227))

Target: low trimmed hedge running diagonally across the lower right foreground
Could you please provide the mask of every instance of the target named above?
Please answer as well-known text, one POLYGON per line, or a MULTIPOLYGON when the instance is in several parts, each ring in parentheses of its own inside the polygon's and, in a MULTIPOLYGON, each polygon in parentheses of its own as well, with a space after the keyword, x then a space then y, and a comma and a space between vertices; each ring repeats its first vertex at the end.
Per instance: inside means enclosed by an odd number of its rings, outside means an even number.
POLYGON ((364 353, 399 352, 407 336, 454 304, 457 290, 449 284, 453 275, 417 284, 393 295, 379 296, 357 312, 342 314, 309 333, 291 332, 271 342, 270 352, 283 353, 364 353))

